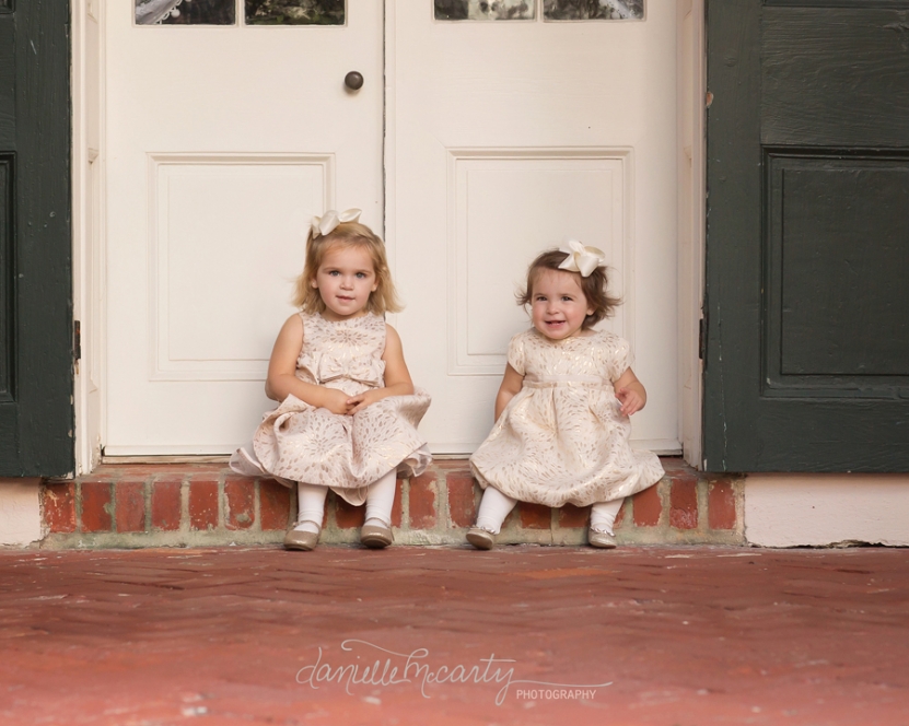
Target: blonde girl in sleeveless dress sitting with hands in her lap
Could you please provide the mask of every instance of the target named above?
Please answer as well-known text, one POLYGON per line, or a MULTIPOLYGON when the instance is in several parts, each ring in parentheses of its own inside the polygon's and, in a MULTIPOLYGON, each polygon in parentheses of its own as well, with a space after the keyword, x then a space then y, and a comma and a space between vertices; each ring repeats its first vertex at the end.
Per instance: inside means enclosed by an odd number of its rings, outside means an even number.
POLYGON ((293 301, 301 312, 284 323, 268 363, 266 395, 280 406, 231 458, 240 473, 296 482, 288 549, 316 547, 329 488, 365 502, 360 541, 387 547, 396 472, 420 475, 431 460, 417 433, 430 397, 413 387, 400 338, 384 320, 400 304, 385 246, 359 216, 331 210, 313 220, 293 301))

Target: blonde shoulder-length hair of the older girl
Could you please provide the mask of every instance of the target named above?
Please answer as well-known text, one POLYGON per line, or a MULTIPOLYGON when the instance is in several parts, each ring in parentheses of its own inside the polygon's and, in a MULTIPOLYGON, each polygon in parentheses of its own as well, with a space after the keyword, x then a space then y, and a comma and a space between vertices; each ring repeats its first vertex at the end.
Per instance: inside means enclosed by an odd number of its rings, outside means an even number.
POLYGON ((395 283, 392 282, 392 271, 388 269, 388 260, 385 257, 385 244, 377 234, 359 222, 342 222, 328 234, 319 235, 315 239, 313 239, 313 231, 310 230, 310 236, 306 238, 306 261, 294 285, 293 304, 296 307, 304 313, 325 312, 325 302, 318 293, 318 288, 313 288, 313 281, 316 279, 325 255, 335 245, 363 247, 372 258, 378 286, 370 293, 365 308, 368 313, 384 315, 404 309, 395 290, 395 283))

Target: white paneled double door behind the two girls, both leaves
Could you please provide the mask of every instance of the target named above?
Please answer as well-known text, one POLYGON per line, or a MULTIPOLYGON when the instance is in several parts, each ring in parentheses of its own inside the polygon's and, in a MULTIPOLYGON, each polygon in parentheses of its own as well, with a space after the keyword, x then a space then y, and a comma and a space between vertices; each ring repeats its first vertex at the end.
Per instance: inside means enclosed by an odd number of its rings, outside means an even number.
POLYGON ((308 221, 349 207, 384 231, 435 453, 488 433, 515 289, 572 237, 626 301, 606 325, 650 393, 637 444, 679 448, 675 3, 548 23, 348 0, 337 27, 142 27, 130 4, 106 17, 106 455, 249 437, 308 221))

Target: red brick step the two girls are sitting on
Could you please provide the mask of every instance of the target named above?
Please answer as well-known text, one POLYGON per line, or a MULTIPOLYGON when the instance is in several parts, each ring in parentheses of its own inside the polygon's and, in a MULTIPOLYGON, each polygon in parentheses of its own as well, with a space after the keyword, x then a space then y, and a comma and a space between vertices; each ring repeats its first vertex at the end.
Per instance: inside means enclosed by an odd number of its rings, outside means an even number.
MULTIPOLYGON (((617 518, 619 543, 743 544, 744 480, 695 471, 663 458, 666 476, 629 497, 617 518)), ((464 544, 481 490, 466 459, 435 461, 398 480, 393 510, 400 544, 464 544)), ((104 465, 42 491, 43 547, 142 548, 280 542, 296 492, 271 479, 238 477, 225 465, 104 465)), ((365 507, 328 494, 321 542, 357 542, 365 507)), ((518 504, 499 542, 582 544, 590 507, 518 504)))

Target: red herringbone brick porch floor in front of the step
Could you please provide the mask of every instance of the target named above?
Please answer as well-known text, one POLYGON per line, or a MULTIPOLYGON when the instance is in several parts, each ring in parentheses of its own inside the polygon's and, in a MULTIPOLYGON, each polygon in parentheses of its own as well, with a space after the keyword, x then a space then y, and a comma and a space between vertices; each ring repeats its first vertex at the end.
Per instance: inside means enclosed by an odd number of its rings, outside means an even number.
POLYGON ((0 723, 905 725, 907 601, 879 548, 0 551, 0 723))

